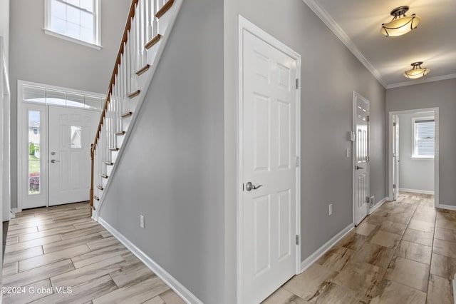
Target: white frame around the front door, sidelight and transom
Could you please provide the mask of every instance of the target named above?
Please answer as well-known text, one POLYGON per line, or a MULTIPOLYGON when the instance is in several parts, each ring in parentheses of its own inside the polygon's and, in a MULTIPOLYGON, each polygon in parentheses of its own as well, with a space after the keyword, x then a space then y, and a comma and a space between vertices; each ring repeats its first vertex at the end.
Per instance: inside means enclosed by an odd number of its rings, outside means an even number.
MULTIPOLYGON (((46 118, 46 120, 47 120, 48 105, 58 106, 55 104, 48 104, 48 103, 44 103, 44 102, 43 103, 41 103, 41 102, 33 103, 33 102, 24 101, 24 98, 23 98, 24 85, 36 86, 39 88, 46 88, 49 90, 63 91, 66 93, 76 93, 76 94, 81 94, 81 95, 100 97, 100 98, 102 98, 102 101, 105 98, 105 95, 101 94, 101 93, 74 90, 72 88, 63 88, 61 86, 50 86, 47 84, 34 83, 31 81, 23 81, 23 80, 17 81, 17 154, 18 154, 18 157, 17 157, 17 212, 22 211, 24 196, 26 195, 25 193, 27 191, 27 188, 26 188, 26 186, 24 186, 24 182, 23 182, 24 178, 26 178, 26 176, 24 176, 24 174, 26 174, 26 173, 24 173, 24 170, 26 168, 26 160, 24 159, 24 157, 21 156, 21 151, 23 151, 23 149, 26 148, 26 147, 24 147, 24 139, 26 138, 25 136, 27 136, 27 134, 28 134, 28 131, 27 131, 28 128, 27 128, 27 130, 24 129, 25 128, 24 123, 26 123, 26 121, 24 121, 24 119, 25 119, 24 113, 22 113, 24 111, 24 104, 33 104, 33 105, 43 106, 43 108, 45 108, 45 113, 46 113, 46 116, 43 118, 46 118)), ((100 105, 100 106, 103 106, 103 105, 100 105)), ((67 107, 75 108, 75 107, 71 107, 71 106, 67 106, 67 107)), ((81 108, 79 108, 79 109, 81 109, 81 108)), ((88 109, 87 111, 100 112, 101 110, 88 109)), ((47 123, 47 121, 45 123, 47 123)), ((46 125, 46 130, 43 130, 43 131, 46 132, 45 136, 47 138, 47 136, 48 136, 47 125, 46 125)), ((95 134, 93 134, 93 138, 95 138, 95 134)), ((45 144, 47 145, 47 142, 45 144)), ((45 166, 46 172, 45 173, 46 173, 46 179, 47 179, 47 171, 48 171, 47 152, 43 153, 43 161, 46 162, 46 166, 45 166)), ((46 184, 47 184, 47 180, 46 180, 46 184)), ((46 188, 46 206, 48 206, 47 188, 46 188)))

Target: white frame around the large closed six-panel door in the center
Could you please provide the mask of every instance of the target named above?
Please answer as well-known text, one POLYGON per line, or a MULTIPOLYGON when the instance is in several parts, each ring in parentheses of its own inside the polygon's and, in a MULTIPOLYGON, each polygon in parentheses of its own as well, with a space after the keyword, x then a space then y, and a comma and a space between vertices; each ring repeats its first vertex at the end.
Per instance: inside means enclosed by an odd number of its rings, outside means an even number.
MULTIPOLYGON (((249 31, 254 36, 257 36, 259 39, 265 41, 267 44, 274 46, 279 51, 284 52, 287 56, 295 59, 297 62, 296 66, 296 79, 301 79, 301 55, 293 51, 281 41, 275 39, 270 34, 266 33, 258 26, 255 26, 250 21, 245 19, 243 16, 239 15, 239 29, 238 29, 238 103, 237 103, 237 303, 242 303, 243 295, 243 278, 242 278, 242 253, 244 246, 243 244, 243 223, 242 218, 244 216, 244 210, 242 208, 243 201, 243 176, 242 172, 244 171, 243 167, 243 44, 242 32, 246 30, 249 31)), ((299 83, 298 83, 299 84, 299 83)), ((299 84, 298 89, 296 90, 296 156, 301 157, 301 85, 299 84)), ((296 235, 299 235, 299 245, 296 245, 296 274, 301 273, 301 166, 296 167, 296 235)), ((247 303, 246 303, 247 304, 247 303)))

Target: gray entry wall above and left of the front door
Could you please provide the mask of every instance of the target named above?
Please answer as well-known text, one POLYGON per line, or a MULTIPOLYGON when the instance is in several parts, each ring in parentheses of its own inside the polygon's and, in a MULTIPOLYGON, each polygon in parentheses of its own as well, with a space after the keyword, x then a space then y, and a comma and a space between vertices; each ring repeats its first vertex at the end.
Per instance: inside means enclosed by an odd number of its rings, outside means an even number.
POLYGON ((44 34, 44 0, 11 1, 11 207, 17 204, 17 81, 95 93, 108 92, 130 0, 101 0, 101 45, 96 49, 44 34))

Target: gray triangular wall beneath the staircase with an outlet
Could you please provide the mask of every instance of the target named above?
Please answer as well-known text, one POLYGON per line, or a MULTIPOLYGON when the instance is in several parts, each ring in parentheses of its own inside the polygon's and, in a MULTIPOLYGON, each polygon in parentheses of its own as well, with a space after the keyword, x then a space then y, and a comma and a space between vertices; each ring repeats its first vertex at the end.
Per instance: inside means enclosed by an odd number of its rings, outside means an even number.
POLYGON ((222 9, 183 1, 100 210, 204 303, 224 301, 222 9))

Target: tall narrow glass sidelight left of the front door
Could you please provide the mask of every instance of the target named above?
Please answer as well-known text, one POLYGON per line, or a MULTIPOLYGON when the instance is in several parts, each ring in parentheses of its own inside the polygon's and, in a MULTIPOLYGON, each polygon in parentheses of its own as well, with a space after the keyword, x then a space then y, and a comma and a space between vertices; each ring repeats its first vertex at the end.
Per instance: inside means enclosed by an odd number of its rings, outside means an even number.
POLYGON ((40 111, 28 111, 28 194, 40 193, 40 111))

